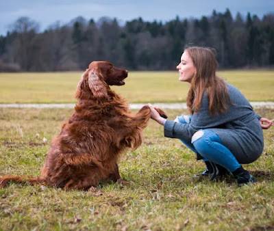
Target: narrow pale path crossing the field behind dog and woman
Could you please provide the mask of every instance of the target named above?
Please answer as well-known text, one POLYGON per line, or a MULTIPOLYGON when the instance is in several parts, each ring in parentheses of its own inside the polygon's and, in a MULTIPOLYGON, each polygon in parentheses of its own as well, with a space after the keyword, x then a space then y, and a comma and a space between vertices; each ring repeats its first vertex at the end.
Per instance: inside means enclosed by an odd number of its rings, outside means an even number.
MULTIPOLYGON (((129 104, 131 109, 140 109, 145 103, 129 104)), ((274 102, 251 102, 253 108, 266 107, 274 109, 274 102)), ((162 109, 186 109, 186 103, 153 103, 153 106, 162 109)), ((0 104, 0 107, 17 108, 74 108, 74 103, 53 103, 53 104, 0 104)))

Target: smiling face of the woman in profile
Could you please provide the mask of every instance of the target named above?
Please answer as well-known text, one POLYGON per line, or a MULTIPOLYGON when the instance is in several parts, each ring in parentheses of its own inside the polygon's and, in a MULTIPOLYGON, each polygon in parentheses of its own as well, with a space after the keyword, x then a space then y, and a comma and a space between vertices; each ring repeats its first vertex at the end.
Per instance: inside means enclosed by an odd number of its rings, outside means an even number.
POLYGON ((191 82, 195 75, 196 68, 187 51, 184 51, 182 54, 181 62, 178 64, 177 70, 179 70, 179 81, 191 82))

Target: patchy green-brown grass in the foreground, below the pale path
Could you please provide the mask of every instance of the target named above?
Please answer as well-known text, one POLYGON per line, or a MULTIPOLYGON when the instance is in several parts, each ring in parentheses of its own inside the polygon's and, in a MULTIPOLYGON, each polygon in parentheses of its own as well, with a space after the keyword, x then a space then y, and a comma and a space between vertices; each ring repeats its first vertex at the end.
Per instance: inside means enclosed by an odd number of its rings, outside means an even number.
MULTIPOLYGON (((166 111, 173 119, 186 111, 166 111)), ((274 118, 273 109, 256 111, 274 118)), ((0 175, 37 176, 51 139, 72 109, 0 109, 0 175), (43 138, 46 138, 47 141, 43 138)), ((101 183, 96 191, 9 184, 0 189, 0 230, 273 230, 274 129, 245 167, 254 185, 234 178, 192 178, 204 168, 177 139, 151 121, 144 143, 121 159, 130 185, 101 183)))

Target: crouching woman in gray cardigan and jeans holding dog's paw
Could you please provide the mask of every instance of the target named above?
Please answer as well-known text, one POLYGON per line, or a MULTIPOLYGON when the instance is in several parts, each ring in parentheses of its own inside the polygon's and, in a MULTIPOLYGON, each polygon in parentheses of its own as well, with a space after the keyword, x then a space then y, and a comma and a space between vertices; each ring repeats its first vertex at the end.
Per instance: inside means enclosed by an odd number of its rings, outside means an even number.
POLYGON ((241 164, 260 157, 262 128, 272 122, 258 116, 236 87, 216 76, 215 55, 214 49, 188 47, 177 66, 179 81, 190 83, 186 104, 191 116, 166 120, 149 105, 151 118, 164 125, 165 137, 180 139, 206 162, 203 174, 211 174, 211 179, 228 170, 238 185, 256 182, 241 164))

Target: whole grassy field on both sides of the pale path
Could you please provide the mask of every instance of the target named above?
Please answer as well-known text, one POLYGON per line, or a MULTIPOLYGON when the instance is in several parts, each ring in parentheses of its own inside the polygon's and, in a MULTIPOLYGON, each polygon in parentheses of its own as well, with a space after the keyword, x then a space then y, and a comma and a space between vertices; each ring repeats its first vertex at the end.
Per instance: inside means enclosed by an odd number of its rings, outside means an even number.
MULTIPOLYGON (((75 103, 81 72, 0 74, 0 103, 75 103)), ((274 101, 273 71, 219 72, 252 101, 274 101)), ((129 72, 113 87, 129 103, 182 102, 188 83, 177 72, 129 72)), ((169 118, 186 111, 167 110, 169 118)), ((274 118, 273 109, 256 111, 274 118)), ((73 109, 0 108, 0 176, 37 176, 60 126, 73 109)), ((0 189, 0 230, 274 230, 274 128, 265 148, 245 167, 254 185, 234 178, 192 178, 201 161, 151 121, 144 143, 121 159, 129 185, 101 182, 94 191, 9 184, 0 189)))

